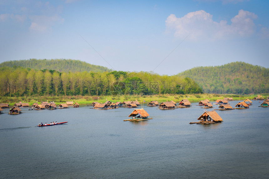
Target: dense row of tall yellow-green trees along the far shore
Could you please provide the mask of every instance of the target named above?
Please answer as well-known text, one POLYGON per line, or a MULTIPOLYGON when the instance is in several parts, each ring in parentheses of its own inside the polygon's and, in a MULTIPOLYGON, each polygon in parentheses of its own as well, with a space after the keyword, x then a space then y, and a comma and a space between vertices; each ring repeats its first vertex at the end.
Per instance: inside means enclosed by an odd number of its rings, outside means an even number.
POLYGON ((0 68, 0 95, 197 94, 190 78, 149 72, 58 72, 22 67, 0 68))

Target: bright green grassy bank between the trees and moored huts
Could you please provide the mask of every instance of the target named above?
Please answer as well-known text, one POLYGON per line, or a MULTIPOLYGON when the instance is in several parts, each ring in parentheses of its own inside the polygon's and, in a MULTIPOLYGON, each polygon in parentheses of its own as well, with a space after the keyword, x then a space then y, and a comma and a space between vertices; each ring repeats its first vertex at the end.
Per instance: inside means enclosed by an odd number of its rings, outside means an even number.
MULTIPOLYGON (((268 94, 261 94, 263 98, 266 99, 268 94)), ((7 97, 2 96, 0 97, 0 103, 8 103, 9 105, 13 105, 14 103, 22 102, 22 103, 29 103, 32 105, 33 103, 41 101, 54 101, 56 105, 60 103, 66 103, 66 101, 73 101, 77 102, 80 105, 88 105, 94 101, 99 103, 104 103, 107 100, 111 102, 117 101, 139 101, 140 104, 149 103, 150 101, 158 101, 159 103, 165 101, 175 101, 179 103, 182 99, 188 99, 191 103, 199 102, 200 100, 209 99, 211 102, 215 102, 217 99, 223 99, 224 97, 233 98, 234 100, 241 100, 244 99, 253 99, 257 94, 248 94, 248 95, 237 95, 237 94, 182 94, 182 95, 173 95, 173 94, 160 94, 160 95, 151 95, 151 96, 139 96, 139 95, 123 95, 123 96, 22 96, 22 97, 7 97)))

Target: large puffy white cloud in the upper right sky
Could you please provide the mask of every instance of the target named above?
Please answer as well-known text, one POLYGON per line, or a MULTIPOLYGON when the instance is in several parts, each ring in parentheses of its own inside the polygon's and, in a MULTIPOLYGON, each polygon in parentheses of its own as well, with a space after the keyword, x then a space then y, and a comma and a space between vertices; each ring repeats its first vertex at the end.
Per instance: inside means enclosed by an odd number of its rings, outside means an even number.
POLYGON ((256 31, 253 22, 256 18, 254 13, 240 10, 238 15, 231 19, 231 25, 228 25, 227 21, 214 22, 210 13, 200 10, 181 18, 171 14, 165 24, 167 31, 175 31, 175 37, 185 38, 189 35, 192 40, 217 40, 231 36, 251 36, 256 31))

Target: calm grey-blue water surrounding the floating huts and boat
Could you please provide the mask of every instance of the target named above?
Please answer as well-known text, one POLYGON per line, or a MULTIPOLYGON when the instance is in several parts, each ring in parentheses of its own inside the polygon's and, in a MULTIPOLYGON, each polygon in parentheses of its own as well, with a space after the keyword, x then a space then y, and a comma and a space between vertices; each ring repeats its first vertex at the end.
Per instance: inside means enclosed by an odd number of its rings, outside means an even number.
POLYGON ((223 123, 189 124, 204 112, 196 104, 145 107, 153 119, 140 122, 123 121, 126 108, 4 109, 0 178, 268 178, 269 108, 253 101, 217 111, 223 123), (35 127, 53 121, 68 123, 35 127))

